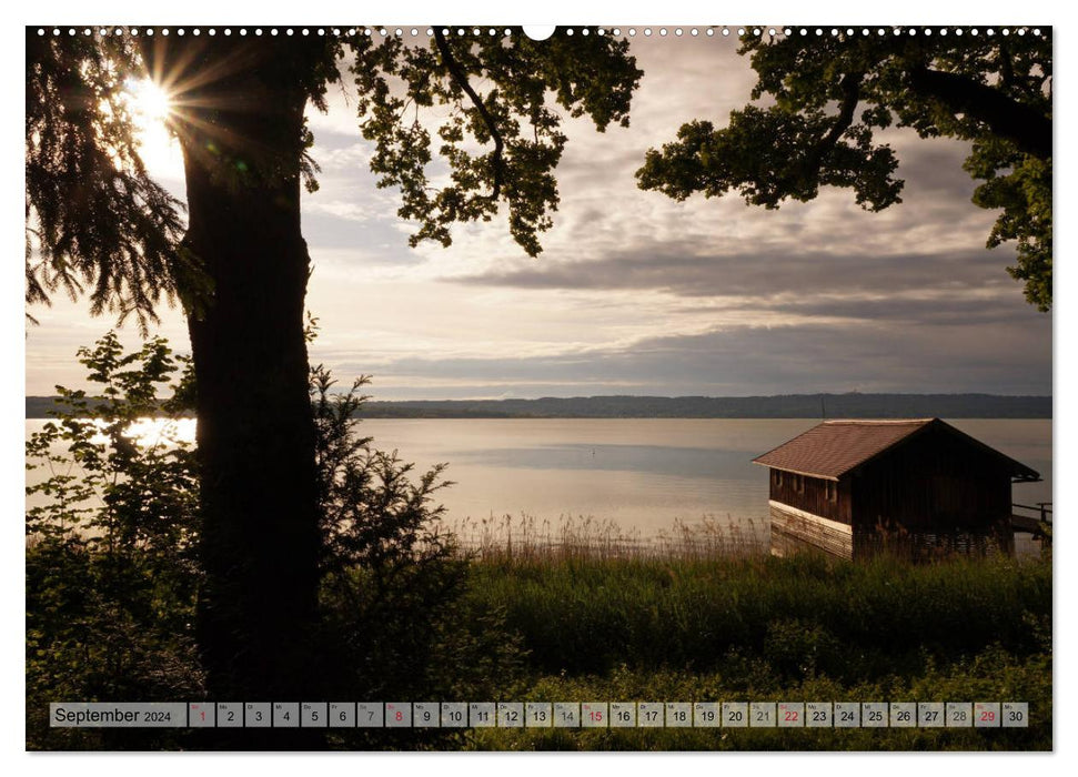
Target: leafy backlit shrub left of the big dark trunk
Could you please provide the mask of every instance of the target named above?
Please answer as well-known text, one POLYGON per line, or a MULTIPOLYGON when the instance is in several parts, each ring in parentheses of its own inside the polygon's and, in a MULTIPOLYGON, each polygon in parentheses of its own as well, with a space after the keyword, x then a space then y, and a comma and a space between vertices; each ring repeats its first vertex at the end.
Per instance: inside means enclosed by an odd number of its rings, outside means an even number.
MULTIPOLYGON (((27 715, 34 747, 113 747, 115 731, 51 729, 49 702, 198 698, 201 573, 193 452, 160 401, 187 360, 161 339, 124 355, 115 334, 79 361, 98 397, 58 387, 57 421, 27 442, 27 715), (157 434, 135 437, 167 413, 157 434)), ((189 366, 189 365, 187 365, 189 366)), ((184 372, 183 374, 189 374, 184 372)), ((181 381, 182 382, 182 381, 181 381)), ((157 738, 154 738, 157 737, 157 738)), ((162 746, 141 733, 127 746, 162 746)))

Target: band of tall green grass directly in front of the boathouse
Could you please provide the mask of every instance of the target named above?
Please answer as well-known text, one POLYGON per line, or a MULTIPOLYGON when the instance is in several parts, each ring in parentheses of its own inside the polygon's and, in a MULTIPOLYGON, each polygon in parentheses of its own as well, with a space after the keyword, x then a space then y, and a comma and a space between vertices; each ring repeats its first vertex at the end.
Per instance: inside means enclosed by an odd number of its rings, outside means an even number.
POLYGON ((622 663, 709 672, 748 656, 782 682, 857 682, 994 643, 1037 653, 1030 623, 1051 614, 1050 564, 1004 558, 523 559, 480 563, 475 576, 530 666, 550 674, 622 663))

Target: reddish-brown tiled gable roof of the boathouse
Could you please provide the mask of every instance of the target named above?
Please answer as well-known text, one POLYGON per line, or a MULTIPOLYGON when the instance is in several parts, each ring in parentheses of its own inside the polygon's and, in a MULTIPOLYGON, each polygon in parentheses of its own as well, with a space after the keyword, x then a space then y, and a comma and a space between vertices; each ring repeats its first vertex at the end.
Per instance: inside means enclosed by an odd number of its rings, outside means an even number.
POLYGON ((837 481, 885 451, 928 430, 957 435, 971 447, 1001 460, 1008 465, 1010 475, 1016 481, 1040 480, 1036 471, 959 432, 939 418, 825 421, 789 442, 757 456, 753 462, 798 475, 837 481))

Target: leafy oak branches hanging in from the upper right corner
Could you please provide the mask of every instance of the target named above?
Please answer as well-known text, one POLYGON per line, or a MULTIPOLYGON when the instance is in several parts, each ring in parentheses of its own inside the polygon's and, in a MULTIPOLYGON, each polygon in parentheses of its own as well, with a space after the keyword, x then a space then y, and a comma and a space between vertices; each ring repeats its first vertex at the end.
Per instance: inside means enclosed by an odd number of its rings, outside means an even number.
POLYGON ((852 189, 879 211, 900 202, 898 160, 878 130, 909 127, 921 138, 969 141, 964 168, 983 181, 974 202, 1000 210, 988 246, 1016 241, 1010 274, 1026 299, 1051 305, 1050 30, 980 29, 974 36, 925 28, 856 28, 832 36, 749 34, 739 52, 758 75, 753 100, 716 129, 683 124, 677 140, 651 150, 641 188, 684 200, 738 192, 778 208, 809 201, 820 186, 852 189))

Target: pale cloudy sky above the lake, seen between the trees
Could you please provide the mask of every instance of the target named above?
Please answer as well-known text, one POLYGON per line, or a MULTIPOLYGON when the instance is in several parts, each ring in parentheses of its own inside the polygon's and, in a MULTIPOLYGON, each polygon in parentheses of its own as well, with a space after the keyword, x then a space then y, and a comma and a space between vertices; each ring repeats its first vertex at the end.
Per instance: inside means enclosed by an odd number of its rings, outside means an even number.
MULTIPOLYGON (((341 379, 373 374, 380 400, 1051 393, 1051 319, 1007 275, 1012 250, 984 248, 995 215, 970 202, 963 143, 889 131, 906 186, 881 213, 843 190, 765 211, 636 189, 648 148, 748 101, 754 73, 735 51, 733 37, 633 39, 644 78, 632 127, 566 121, 562 204, 537 259, 504 220, 457 229, 450 249, 410 249, 414 225, 374 188, 370 144, 334 93, 311 115, 321 190, 303 204, 322 327, 312 360, 341 379)), ((179 152, 158 134, 151 169, 182 196, 179 152)), ((113 323, 85 311, 32 311, 28 394, 80 384, 74 351, 113 323)), ((185 349, 179 313, 163 319, 185 349)))

